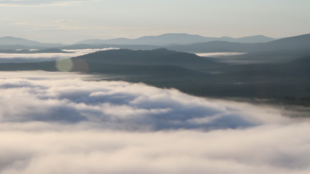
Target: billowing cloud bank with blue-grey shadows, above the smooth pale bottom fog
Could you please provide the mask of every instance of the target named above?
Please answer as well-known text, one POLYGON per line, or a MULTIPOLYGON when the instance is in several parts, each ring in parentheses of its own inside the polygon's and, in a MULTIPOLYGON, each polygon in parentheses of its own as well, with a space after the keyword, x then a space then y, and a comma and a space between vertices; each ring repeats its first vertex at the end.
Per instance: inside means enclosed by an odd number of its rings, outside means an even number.
POLYGON ((86 122, 130 131, 247 128, 291 122, 276 110, 208 101, 144 84, 51 79, 50 75, 61 76, 57 72, 37 72, 36 77, 25 77, 29 72, 1 73, 0 122, 86 122), (23 78, 12 77, 16 73, 23 78))

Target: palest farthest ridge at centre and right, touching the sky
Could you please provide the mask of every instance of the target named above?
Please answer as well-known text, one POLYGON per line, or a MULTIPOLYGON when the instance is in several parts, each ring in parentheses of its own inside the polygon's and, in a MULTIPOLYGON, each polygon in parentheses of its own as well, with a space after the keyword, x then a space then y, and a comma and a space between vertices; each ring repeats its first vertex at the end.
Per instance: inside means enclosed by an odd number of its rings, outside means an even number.
POLYGON ((262 35, 251 37, 203 37, 200 35, 188 35, 185 33, 169 33, 159 36, 145 36, 137 39, 117 38, 117 39, 88 39, 85 41, 79 41, 74 44, 132 44, 132 45, 154 45, 154 46, 166 46, 169 44, 190 44, 207 41, 230 41, 237 43, 265 43, 268 41, 274 41, 276 39, 271 37, 265 37, 262 35))

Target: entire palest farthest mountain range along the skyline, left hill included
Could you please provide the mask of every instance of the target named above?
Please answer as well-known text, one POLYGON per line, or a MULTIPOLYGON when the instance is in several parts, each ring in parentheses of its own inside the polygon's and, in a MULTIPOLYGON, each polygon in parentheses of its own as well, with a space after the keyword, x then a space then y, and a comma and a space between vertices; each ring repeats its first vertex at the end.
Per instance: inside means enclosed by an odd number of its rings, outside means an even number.
MULTIPOLYGON (((175 46, 180 44, 191 44, 208 41, 230 41, 236 43, 265 43, 268 41, 276 40, 271 37, 265 36, 252 36, 241 37, 234 39, 232 37, 202 37, 200 35, 187 35, 187 34, 165 34, 159 36, 145 36, 138 39, 90 39, 85 41, 79 41, 76 44, 88 44, 88 45, 143 45, 143 46, 175 46)), ((56 48, 61 46, 69 46, 63 43, 41 43, 39 41, 31 41, 28 39, 22 39, 17 37, 0 37, 0 49, 44 49, 44 48, 56 48)), ((154 48, 154 47, 152 47, 154 48)), ((158 47, 159 48, 159 47, 158 47)))

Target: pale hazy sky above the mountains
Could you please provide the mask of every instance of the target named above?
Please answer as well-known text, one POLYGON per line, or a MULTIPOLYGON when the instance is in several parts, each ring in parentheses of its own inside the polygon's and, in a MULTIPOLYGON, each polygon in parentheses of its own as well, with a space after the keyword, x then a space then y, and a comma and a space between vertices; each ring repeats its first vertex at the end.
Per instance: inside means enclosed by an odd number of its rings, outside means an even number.
POLYGON ((310 32, 309 0, 0 0, 0 37, 74 43, 164 33, 206 37, 310 32))

